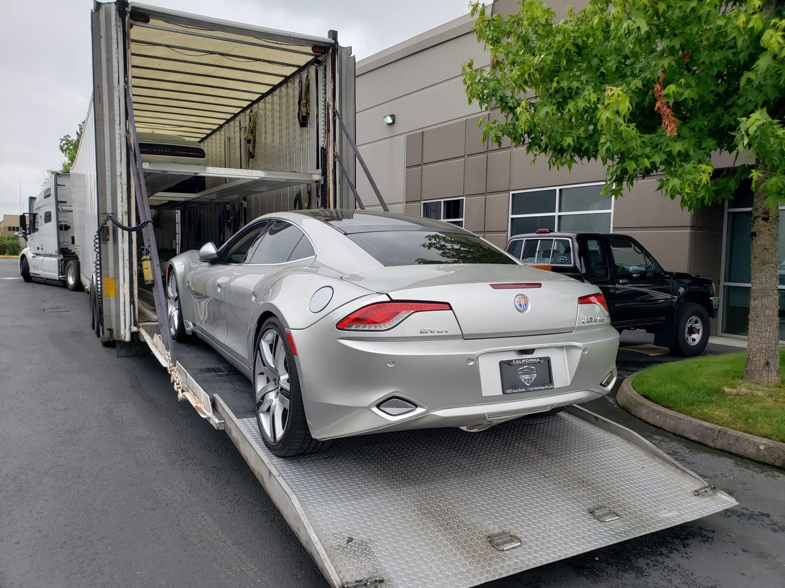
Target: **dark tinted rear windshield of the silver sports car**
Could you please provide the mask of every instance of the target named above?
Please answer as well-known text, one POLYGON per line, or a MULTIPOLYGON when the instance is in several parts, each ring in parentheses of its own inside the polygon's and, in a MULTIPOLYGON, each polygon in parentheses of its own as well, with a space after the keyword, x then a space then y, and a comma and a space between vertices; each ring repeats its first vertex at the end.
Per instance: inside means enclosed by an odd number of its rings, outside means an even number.
POLYGON ((347 235, 385 266, 516 262, 479 237, 436 230, 385 230, 347 235))

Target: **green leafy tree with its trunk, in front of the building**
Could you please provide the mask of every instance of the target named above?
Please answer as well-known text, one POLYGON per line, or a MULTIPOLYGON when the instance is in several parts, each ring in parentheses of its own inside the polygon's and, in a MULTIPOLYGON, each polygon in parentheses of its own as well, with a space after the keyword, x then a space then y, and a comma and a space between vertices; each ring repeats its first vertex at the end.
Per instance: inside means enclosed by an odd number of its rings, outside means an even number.
POLYGON ((785 3, 589 0, 557 21, 521 0, 509 17, 476 2, 490 66, 463 66, 469 102, 498 107, 483 135, 509 137, 568 169, 607 165, 605 191, 664 174, 659 189, 696 209, 754 189, 750 337, 745 379, 780 381, 778 203, 785 201, 785 3), (715 170, 711 154, 743 163, 715 170), (748 165, 750 162, 750 165, 748 165))

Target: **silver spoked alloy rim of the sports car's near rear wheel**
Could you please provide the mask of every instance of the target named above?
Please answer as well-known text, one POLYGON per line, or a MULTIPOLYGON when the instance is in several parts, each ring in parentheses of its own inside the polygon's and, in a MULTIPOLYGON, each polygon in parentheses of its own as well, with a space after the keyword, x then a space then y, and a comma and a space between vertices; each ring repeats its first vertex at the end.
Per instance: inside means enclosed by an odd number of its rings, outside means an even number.
POLYGON ((289 423, 289 362, 283 339, 274 328, 262 333, 254 362, 254 390, 259 423, 277 443, 289 423))

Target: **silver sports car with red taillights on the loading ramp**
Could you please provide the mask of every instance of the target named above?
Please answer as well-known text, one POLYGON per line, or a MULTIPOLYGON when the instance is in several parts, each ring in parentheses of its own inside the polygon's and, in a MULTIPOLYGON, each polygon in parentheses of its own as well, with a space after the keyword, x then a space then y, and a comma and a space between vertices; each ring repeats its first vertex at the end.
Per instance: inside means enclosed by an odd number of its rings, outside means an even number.
POLYGON ((277 212, 174 257, 173 337, 254 383, 279 456, 400 429, 479 431, 607 394, 619 334, 597 287, 462 228, 382 212, 277 212))

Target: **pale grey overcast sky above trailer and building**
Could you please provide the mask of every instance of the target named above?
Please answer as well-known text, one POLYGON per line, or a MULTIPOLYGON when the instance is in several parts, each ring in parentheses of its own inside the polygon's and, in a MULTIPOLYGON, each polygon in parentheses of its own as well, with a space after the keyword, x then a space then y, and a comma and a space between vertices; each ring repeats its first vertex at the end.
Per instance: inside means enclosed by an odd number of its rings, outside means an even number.
MULTIPOLYGON (((148 4, 306 34, 338 31, 358 59, 469 12, 468 0, 147 0, 148 4)), ((92 0, 3 2, 0 215, 40 191, 57 148, 87 114, 92 0)))

